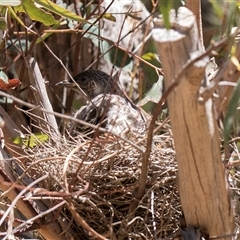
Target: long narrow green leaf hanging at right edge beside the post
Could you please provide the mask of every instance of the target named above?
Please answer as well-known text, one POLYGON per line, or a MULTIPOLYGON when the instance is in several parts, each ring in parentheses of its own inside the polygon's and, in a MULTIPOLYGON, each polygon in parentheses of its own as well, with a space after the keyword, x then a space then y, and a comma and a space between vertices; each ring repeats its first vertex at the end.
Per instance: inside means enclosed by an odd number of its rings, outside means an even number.
POLYGON ((238 106, 238 101, 240 98, 240 83, 238 82, 238 86, 235 89, 232 98, 229 102, 227 114, 224 119, 224 131, 223 131, 223 137, 224 137, 224 144, 227 145, 229 138, 230 138, 230 132, 232 130, 233 121, 236 115, 236 109, 238 106))

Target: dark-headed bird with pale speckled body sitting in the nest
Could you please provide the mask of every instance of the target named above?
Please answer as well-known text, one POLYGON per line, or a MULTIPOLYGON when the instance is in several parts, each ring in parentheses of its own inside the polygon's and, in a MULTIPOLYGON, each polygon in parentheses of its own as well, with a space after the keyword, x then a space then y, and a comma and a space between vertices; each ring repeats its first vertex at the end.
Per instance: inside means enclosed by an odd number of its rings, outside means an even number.
MULTIPOLYGON (((145 133, 145 116, 128 98, 117 79, 103 71, 89 69, 74 76, 73 80, 63 80, 56 85, 86 94, 88 103, 75 113, 76 119, 99 125, 120 136, 130 132, 137 135, 145 133)), ((72 130, 86 133, 89 127, 75 122, 72 130)))

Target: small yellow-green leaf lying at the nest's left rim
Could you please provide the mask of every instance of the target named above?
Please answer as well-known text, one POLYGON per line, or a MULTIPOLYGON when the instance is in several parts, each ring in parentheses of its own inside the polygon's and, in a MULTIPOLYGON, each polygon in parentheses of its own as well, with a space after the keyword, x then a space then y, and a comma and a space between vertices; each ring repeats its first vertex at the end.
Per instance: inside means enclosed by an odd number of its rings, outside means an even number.
POLYGON ((47 142, 49 140, 49 136, 47 134, 42 133, 34 133, 31 135, 23 137, 14 137, 12 139, 13 143, 20 145, 20 146, 26 146, 26 147, 36 147, 40 145, 41 143, 47 142))

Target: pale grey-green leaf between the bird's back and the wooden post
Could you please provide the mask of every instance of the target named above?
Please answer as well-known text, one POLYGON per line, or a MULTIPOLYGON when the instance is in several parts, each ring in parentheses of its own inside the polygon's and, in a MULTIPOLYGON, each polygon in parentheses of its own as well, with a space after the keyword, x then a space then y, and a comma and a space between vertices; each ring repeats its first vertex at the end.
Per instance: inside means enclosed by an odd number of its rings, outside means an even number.
POLYGON ((145 94, 144 98, 138 102, 138 106, 143 106, 149 101, 158 103, 163 92, 163 76, 159 76, 158 81, 153 84, 152 88, 145 94))

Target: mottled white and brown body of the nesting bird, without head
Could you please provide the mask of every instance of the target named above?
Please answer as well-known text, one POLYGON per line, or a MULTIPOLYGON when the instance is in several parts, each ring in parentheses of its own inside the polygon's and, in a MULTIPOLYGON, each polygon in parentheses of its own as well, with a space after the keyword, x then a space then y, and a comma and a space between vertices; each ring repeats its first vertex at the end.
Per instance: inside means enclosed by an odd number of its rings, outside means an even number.
MULTIPOLYGON (((116 94, 99 94, 88 105, 80 108, 75 117, 94 125, 99 124, 109 132, 121 136, 125 136, 128 132, 142 135, 146 130, 141 113, 116 94)), ((83 126, 78 125, 74 128, 84 129, 83 126)))

